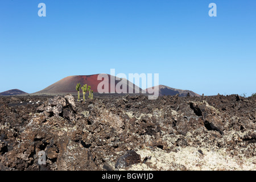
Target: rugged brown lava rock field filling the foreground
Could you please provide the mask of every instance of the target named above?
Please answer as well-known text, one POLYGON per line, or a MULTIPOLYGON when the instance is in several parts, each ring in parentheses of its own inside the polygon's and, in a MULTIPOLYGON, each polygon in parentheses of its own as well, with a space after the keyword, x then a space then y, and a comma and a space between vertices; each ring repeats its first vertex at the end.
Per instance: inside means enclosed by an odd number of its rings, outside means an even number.
POLYGON ((255 122, 237 95, 0 97, 0 169, 256 170, 255 122))

